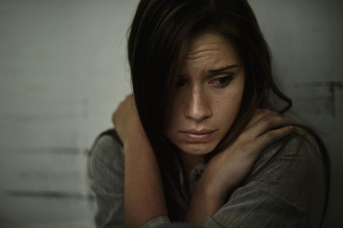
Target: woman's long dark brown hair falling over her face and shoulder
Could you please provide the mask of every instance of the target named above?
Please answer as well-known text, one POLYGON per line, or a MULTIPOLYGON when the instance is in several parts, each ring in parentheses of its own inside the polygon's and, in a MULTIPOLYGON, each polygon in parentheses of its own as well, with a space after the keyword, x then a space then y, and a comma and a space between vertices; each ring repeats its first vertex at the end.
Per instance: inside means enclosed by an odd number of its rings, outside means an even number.
MULTIPOLYGON (((179 149, 162 133, 169 120, 177 74, 190 37, 204 30, 216 31, 234 41, 243 59, 246 77, 243 102, 227 135, 210 153, 213 155, 234 142, 256 108, 275 108, 269 102, 273 92, 292 105, 274 83, 271 55, 255 14, 246 0, 141 0, 129 29, 128 60, 135 103, 142 126, 155 152, 163 179, 170 220, 177 220, 177 210, 185 209, 176 175, 173 156, 179 149)), ((327 149, 321 139, 306 128, 319 145, 326 171, 326 213, 330 184, 327 149)))

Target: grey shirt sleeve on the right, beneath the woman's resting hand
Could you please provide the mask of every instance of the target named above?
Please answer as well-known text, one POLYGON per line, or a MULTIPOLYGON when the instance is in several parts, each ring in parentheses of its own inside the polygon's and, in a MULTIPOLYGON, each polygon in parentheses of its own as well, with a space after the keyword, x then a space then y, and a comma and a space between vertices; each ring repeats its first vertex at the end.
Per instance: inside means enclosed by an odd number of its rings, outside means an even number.
MULTIPOLYGON (((308 135, 307 139, 314 143, 308 135)), ((251 179, 235 189, 202 226, 318 227, 324 174, 318 147, 314 145, 301 135, 293 135, 265 148, 249 174, 251 179)))

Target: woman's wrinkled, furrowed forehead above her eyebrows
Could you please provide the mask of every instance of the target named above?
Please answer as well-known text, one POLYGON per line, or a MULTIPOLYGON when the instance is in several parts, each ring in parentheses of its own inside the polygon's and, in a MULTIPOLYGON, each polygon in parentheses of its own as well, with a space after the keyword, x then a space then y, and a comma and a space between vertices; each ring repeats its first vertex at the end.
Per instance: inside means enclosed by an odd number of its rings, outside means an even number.
POLYGON ((182 68, 208 65, 220 67, 238 64, 239 61, 238 50, 233 41, 219 33, 203 32, 190 39, 182 68))

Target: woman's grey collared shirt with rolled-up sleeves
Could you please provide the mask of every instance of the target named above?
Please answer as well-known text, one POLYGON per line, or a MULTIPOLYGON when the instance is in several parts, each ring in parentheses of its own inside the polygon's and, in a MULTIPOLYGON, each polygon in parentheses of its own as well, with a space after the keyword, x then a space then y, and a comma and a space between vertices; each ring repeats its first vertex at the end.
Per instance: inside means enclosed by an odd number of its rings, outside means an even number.
MULTIPOLYGON (((315 147, 297 135, 277 156, 286 138, 263 149, 250 172, 256 176, 234 189, 228 201, 206 217, 203 227, 319 227, 325 191, 323 163, 314 139, 303 129, 295 127, 295 131, 315 147)), ((188 203, 205 166, 202 160, 190 172, 187 192, 184 171, 176 160, 175 169, 188 203)), ((119 138, 108 134, 98 137, 92 149, 90 173, 98 205, 97 227, 123 227, 124 156, 119 138)), ((170 223, 169 218, 160 216, 144 228, 166 223, 170 223)))

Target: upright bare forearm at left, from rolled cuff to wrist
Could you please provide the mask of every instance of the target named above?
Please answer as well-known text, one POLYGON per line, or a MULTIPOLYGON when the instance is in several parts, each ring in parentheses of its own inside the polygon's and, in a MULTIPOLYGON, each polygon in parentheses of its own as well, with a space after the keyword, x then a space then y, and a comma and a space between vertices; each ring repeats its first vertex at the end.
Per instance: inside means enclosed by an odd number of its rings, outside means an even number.
POLYGON ((145 139, 134 139, 124 143, 124 224, 130 228, 168 215, 156 156, 145 139))

